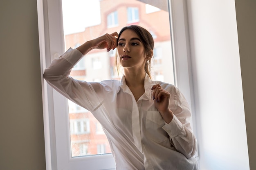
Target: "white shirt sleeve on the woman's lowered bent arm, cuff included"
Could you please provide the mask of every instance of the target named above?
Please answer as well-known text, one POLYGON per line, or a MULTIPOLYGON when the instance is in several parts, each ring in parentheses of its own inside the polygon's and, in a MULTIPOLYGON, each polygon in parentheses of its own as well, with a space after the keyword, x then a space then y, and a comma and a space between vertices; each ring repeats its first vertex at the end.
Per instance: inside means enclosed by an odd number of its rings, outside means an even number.
POLYGON ((175 101, 170 106, 174 117, 169 124, 163 126, 163 129, 168 133, 170 142, 175 149, 187 158, 191 158, 196 153, 197 140, 189 123, 191 117, 189 105, 177 88, 171 95, 175 101))

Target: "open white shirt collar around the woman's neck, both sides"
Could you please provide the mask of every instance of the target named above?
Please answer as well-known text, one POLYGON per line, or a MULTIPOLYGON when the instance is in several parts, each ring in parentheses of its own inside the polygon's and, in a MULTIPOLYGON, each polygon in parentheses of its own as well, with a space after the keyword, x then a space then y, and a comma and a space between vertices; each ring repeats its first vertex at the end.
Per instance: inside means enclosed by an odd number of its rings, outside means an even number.
MULTIPOLYGON (((151 95, 153 93, 153 90, 151 90, 151 88, 152 88, 153 85, 156 85, 156 84, 157 83, 155 81, 152 81, 150 79, 150 77, 148 76, 148 74, 146 74, 145 78, 144 78, 145 93, 141 96, 141 99, 150 100, 151 99, 151 95)), ((120 87, 121 87, 121 89, 123 89, 124 92, 131 93, 129 87, 126 85, 126 81, 125 81, 124 75, 121 78, 120 87)))

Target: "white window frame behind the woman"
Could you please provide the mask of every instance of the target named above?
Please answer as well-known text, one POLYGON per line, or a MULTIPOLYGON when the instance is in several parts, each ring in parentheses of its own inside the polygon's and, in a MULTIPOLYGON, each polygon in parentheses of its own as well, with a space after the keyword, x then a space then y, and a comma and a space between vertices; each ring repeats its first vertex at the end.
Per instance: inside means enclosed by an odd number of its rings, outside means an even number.
MULTIPOLYGON (((41 74, 43 75, 45 68, 65 51, 62 7, 61 0, 37 0, 37 6, 41 74)), ((170 22, 175 82, 191 106, 193 123, 195 123, 186 1, 168 0, 168 7, 172 9, 170 22)), ((70 141, 66 140, 70 136, 68 101, 53 90, 43 77, 42 92, 46 169, 79 170, 85 167, 90 170, 114 169, 115 162, 111 154, 75 158, 70 156, 71 149, 68 148, 71 145, 70 141), (63 107, 63 104, 66 107, 63 107)), ((196 134, 195 127, 193 131, 196 134)))

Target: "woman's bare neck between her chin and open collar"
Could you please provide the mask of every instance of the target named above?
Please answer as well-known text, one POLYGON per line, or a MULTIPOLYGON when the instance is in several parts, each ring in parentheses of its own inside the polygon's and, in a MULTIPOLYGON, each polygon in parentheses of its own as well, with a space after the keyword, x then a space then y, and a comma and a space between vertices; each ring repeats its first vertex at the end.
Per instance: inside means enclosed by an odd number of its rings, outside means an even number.
POLYGON ((128 87, 136 87, 139 85, 144 86, 144 78, 145 78, 146 72, 131 72, 129 70, 124 71, 124 77, 126 80, 126 85, 128 87))

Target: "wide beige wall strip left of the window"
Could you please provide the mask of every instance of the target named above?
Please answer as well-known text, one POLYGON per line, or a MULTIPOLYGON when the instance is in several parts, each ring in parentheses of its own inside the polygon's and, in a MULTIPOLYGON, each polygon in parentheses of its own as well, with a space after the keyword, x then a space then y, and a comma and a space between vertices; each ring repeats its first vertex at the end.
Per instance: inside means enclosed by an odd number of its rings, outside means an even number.
POLYGON ((1 0, 0 25, 0 169, 45 170, 36 0, 1 0))

